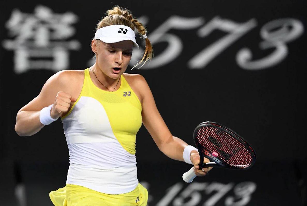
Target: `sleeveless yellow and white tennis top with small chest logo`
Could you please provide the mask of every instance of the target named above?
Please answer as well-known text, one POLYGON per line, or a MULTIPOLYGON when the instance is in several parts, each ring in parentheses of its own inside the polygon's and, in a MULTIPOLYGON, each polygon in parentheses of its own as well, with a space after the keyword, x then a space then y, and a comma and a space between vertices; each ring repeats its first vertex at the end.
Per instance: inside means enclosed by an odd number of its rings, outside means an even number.
POLYGON ((84 70, 80 96, 62 123, 69 151, 66 184, 107 194, 128 193, 138 185, 135 136, 142 105, 121 75, 120 88, 104 91, 84 70))

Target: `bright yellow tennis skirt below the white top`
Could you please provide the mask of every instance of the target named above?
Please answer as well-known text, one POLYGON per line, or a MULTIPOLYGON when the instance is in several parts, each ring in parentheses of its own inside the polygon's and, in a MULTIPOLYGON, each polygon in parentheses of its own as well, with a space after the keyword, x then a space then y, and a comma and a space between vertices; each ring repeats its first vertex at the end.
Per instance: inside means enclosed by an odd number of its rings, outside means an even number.
POLYGON ((146 206, 148 191, 143 185, 129 193, 110 195, 100 193, 79 185, 66 184, 49 193, 50 200, 55 206, 146 206))

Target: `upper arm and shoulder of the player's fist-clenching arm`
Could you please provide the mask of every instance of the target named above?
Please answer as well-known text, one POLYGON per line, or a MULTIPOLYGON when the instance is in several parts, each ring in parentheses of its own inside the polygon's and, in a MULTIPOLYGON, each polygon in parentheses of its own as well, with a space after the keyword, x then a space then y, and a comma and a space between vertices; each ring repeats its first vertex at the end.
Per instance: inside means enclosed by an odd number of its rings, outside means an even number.
POLYGON ((66 76, 67 74, 65 74, 64 71, 60 71, 51 76, 42 87, 38 96, 32 99, 19 111, 39 111, 42 108, 53 104, 57 93, 59 91, 65 90, 63 83, 66 76))

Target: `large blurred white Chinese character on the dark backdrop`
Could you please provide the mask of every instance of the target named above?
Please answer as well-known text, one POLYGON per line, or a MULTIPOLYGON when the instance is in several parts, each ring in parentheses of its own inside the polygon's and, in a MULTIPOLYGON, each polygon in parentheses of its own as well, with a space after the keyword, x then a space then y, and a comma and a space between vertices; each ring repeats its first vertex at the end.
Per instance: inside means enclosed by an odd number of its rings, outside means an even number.
POLYGON ((71 24, 78 17, 72 12, 53 13, 46 6, 37 5, 34 13, 12 11, 6 22, 8 36, 2 46, 14 50, 14 72, 28 69, 52 69, 55 72, 69 68, 68 50, 79 50, 78 40, 66 40, 76 33, 71 24))

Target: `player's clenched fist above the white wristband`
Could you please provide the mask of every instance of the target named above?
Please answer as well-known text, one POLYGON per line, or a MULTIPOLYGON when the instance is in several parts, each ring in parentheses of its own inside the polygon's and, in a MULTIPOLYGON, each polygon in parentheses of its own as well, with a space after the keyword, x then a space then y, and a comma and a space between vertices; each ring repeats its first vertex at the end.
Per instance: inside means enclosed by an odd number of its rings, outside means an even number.
POLYGON ((65 92, 58 92, 50 110, 50 116, 53 119, 59 118, 63 113, 68 111, 70 103, 76 101, 77 99, 73 98, 70 94, 65 92))

